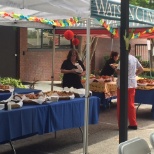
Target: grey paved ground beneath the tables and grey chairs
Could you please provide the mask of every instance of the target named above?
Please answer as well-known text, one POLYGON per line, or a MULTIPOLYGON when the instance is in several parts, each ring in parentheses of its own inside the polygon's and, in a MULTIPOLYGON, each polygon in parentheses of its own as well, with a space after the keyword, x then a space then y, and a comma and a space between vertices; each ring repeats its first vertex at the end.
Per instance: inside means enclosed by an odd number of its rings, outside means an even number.
MULTIPOLYGON (((42 81, 35 89, 51 90, 51 82, 42 81)), ((60 83, 54 83, 54 90, 60 90, 60 83)), ((141 105, 137 111, 137 130, 128 130, 128 139, 141 137, 150 148, 150 134, 154 132, 151 105, 141 105)), ((99 123, 89 125, 88 131, 89 154, 118 154, 119 130, 116 119, 116 103, 110 109, 100 106, 99 123)), ((78 128, 54 133, 35 135, 12 142, 17 154, 81 154, 83 153, 82 135, 78 128)), ((10 144, 0 145, 0 154, 12 154, 10 144)))

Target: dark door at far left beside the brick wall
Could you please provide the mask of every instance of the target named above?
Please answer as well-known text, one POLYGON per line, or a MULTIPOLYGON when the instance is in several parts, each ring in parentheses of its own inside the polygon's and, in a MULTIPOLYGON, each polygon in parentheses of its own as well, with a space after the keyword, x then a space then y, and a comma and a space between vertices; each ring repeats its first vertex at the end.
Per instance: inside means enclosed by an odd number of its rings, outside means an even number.
POLYGON ((0 77, 17 78, 18 28, 0 26, 0 77))

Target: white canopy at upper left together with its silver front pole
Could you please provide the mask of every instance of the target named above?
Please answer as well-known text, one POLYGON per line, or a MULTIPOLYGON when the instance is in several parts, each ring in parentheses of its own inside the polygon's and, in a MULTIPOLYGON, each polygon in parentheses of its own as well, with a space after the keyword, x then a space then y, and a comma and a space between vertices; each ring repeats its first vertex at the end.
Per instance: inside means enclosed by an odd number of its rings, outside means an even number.
MULTIPOLYGON (((82 17, 87 20, 87 52, 86 52, 86 94, 85 94, 85 119, 84 119, 84 144, 83 153, 88 151, 88 119, 89 119, 89 66, 90 66, 90 0, 0 0, 0 10, 9 13, 16 12, 29 16, 37 16, 48 19, 69 19, 71 17, 82 17)), ((7 18, 0 20, 0 25, 19 27, 40 27, 33 22, 16 21, 7 18), (27 25, 26 25, 26 24, 27 25)), ((42 28, 49 28, 43 25, 42 28), (44 27, 43 27, 44 26, 44 27)), ((51 26, 50 26, 51 28, 51 26)))

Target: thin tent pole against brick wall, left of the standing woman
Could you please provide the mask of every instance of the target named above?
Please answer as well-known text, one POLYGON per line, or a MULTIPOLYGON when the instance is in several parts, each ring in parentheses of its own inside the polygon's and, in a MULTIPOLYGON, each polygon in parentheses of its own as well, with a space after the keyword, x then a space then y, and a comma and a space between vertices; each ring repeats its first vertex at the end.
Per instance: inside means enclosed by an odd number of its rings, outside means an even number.
POLYGON ((53 91, 54 84, 54 58, 55 58, 55 26, 53 26, 53 42, 52 42, 52 75, 51 75, 51 91, 53 91))

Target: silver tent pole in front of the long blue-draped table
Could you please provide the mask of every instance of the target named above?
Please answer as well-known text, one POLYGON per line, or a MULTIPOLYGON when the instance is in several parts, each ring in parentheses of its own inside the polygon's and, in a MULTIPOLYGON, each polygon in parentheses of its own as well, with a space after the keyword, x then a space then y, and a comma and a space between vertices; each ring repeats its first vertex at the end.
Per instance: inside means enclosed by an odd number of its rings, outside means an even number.
POLYGON ((87 18, 87 46, 86 46, 86 92, 85 115, 83 133, 83 154, 88 154, 88 122, 89 122, 89 72, 90 72, 90 18, 87 18))

